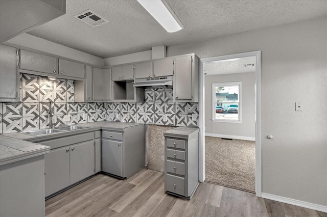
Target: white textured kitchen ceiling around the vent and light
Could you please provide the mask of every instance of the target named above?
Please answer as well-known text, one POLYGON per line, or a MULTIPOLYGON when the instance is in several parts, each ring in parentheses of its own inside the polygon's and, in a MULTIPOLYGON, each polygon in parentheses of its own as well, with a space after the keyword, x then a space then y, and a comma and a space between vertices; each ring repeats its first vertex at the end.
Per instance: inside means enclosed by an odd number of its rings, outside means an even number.
POLYGON ((167 2, 183 24, 179 32, 167 33, 136 1, 67 0, 65 15, 28 34, 108 58, 327 15, 326 0, 167 2), (73 17, 87 9, 109 23, 92 28, 73 17))

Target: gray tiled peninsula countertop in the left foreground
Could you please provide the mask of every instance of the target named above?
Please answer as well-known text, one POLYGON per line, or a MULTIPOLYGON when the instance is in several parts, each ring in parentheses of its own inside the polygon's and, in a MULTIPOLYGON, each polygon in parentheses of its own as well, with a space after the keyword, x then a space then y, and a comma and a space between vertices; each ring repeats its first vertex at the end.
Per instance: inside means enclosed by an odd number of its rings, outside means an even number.
POLYGON ((0 166, 50 152, 50 147, 0 135, 0 166))

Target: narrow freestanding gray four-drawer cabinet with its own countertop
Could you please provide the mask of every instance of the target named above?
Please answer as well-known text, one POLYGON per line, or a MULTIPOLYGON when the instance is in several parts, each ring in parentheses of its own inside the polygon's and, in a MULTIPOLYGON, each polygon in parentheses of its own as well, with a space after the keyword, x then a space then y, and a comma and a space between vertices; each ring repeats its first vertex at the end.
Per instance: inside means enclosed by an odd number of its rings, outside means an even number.
POLYGON ((177 127, 164 136, 165 191, 191 199, 199 185, 199 129, 177 127))

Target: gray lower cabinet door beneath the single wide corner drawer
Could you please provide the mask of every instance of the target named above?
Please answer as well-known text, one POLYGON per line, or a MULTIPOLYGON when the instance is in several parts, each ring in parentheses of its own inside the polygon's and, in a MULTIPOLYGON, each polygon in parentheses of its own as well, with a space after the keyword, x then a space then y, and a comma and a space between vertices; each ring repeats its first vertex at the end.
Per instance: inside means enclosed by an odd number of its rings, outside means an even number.
POLYGON ((102 140, 102 171, 123 176, 123 144, 111 140, 102 140))

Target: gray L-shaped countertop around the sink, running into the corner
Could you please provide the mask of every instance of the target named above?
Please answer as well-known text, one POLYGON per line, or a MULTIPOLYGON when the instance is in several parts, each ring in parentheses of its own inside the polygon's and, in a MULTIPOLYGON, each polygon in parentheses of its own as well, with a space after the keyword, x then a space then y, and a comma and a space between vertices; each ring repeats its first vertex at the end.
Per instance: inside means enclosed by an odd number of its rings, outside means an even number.
POLYGON ((36 142, 40 141, 42 139, 54 139, 58 136, 67 136, 67 135, 73 135, 76 133, 82 133, 82 132, 88 132, 88 131, 96 131, 96 130, 114 130, 114 131, 121 131, 123 132, 125 128, 133 127, 137 125, 143 125, 141 123, 126 123, 126 122, 116 122, 116 121, 97 121, 97 122, 89 122, 89 123, 83 123, 83 124, 75 124, 76 126, 82 126, 87 127, 83 129, 75 129, 75 130, 67 130, 62 131, 58 133, 50 133, 50 134, 44 134, 44 135, 29 135, 21 132, 13 132, 13 133, 5 133, 3 134, 5 137, 15 138, 18 140, 25 140, 25 141, 31 141, 36 142))

